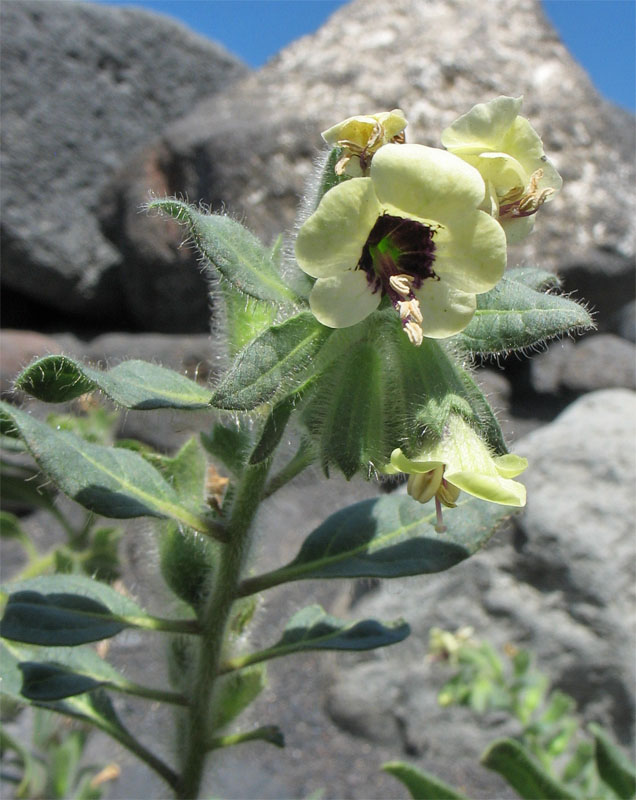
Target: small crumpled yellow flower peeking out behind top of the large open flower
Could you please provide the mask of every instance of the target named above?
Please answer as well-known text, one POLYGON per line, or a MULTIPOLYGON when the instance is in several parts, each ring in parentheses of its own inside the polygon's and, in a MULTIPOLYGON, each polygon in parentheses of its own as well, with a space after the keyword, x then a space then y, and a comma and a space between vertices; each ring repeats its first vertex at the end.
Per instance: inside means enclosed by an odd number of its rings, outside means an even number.
POLYGON ((342 148, 336 164, 336 175, 367 175, 374 153, 389 142, 403 143, 407 122, 399 108, 380 114, 349 117, 323 131, 322 138, 330 147, 342 148))

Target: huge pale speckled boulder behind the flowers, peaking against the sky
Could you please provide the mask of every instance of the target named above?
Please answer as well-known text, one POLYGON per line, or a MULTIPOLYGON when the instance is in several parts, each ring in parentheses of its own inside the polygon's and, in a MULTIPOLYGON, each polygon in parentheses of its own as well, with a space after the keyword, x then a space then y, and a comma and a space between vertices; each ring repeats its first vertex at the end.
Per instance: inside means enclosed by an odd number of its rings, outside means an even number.
POLYGON ((563 272, 604 324, 634 294, 633 116, 602 100, 538 0, 354 0, 231 92, 203 101, 111 187, 130 285, 157 268, 169 273, 168 259, 180 268, 183 257, 174 255, 178 233, 157 235, 137 214, 148 188, 161 195, 171 185, 227 208, 272 239, 293 223, 324 128, 399 106, 408 140, 439 146, 456 116, 499 94, 525 96, 522 113, 565 181, 509 263, 563 272))

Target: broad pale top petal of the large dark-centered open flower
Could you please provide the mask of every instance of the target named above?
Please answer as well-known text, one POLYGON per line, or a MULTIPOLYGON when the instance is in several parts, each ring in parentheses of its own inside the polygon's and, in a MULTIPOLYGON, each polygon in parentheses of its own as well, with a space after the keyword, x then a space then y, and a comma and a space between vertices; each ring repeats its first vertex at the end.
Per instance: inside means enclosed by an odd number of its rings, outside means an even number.
POLYGON ((420 144, 387 144, 371 162, 381 203, 403 215, 445 222, 476 209, 486 187, 476 169, 452 153, 420 144))

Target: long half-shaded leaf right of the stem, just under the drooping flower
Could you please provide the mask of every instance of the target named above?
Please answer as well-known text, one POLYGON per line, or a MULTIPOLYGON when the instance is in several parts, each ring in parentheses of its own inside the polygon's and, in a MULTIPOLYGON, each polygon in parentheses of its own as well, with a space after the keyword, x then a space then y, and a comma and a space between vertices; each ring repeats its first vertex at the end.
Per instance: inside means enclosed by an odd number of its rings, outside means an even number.
POLYGON ((289 564, 247 578, 239 595, 314 578, 398 578, 441 572, 479 550, 514 511, 473 497, 447 512, 435 531, 433 503, 405 495, 363 500, 328 517, 289 564))

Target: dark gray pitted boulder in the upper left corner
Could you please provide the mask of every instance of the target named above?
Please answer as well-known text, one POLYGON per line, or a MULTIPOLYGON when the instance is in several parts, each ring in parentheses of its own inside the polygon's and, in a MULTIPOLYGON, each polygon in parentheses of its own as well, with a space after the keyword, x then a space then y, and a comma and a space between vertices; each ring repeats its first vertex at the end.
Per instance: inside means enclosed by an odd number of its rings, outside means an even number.
POLYGON ((1 10, 3 282, 121 327, 126 267, 100 230, 100 192, 135 147, 247 68, 138 9, 20 0, 1 10))

